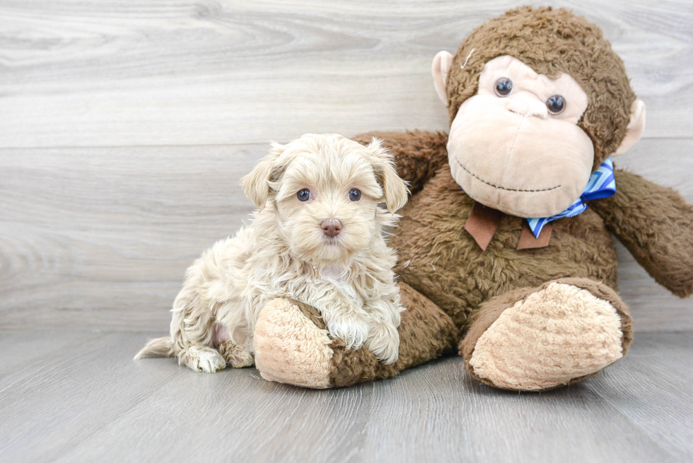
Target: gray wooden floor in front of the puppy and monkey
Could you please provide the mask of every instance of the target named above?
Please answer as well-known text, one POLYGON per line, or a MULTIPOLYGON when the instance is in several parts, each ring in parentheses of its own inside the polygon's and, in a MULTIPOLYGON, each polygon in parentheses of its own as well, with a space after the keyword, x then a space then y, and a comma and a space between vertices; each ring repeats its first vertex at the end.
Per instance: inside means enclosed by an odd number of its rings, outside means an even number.
POLYGON ((636 336, 602 375, 542 394, 459 357, 316 391, 254 368, 132 361, 125 332, 0 332, 0 462, 689 462, 693 333, 636 336))

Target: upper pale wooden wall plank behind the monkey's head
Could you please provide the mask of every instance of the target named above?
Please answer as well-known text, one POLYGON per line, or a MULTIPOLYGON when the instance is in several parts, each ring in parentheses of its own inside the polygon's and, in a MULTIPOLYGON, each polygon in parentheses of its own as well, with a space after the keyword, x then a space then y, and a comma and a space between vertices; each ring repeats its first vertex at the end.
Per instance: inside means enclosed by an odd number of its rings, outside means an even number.
MULTIPOLYGON (((0 146, 445 129, 431 59, 525 3, 4 0, 0 146)), ((691 136, 689 1, 530 3, 573 7, 600 25, 647 104, 647 137, 691 136)))

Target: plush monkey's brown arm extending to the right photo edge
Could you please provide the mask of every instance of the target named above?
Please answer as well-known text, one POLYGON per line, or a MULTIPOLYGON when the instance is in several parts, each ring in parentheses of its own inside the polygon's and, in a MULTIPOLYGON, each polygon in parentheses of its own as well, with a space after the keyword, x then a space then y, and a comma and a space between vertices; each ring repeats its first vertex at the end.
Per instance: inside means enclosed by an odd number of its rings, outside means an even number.
POLYGON ((693 293, 693 206, 673 189, 616 170, 616 194, 590 201, 607 228, 657 283, 693 293))

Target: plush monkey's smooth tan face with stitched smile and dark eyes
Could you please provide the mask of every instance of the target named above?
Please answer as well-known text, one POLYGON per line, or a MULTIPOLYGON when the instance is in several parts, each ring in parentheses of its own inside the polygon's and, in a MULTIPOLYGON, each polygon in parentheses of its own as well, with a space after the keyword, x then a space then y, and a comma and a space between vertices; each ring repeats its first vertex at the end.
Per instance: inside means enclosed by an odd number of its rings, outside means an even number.
POLYGON ((474 200, 513 216, 564 211, 592 173, 594 146, 577 125, 587 105, 567 74, 552 80, 519 59, 492 59, 450 127, 453 177, 474 200))

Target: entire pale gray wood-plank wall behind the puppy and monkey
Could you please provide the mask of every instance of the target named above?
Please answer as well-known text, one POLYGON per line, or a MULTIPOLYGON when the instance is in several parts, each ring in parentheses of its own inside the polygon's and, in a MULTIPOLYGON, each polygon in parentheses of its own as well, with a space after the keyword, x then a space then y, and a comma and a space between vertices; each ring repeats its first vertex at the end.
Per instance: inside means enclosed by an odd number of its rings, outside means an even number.
MULTIPOLYGON (((431 59, 522 3, 0 0, 0 328, 165 331, 270 139, 446 129, 431 59)), ((598 23, 646 102, 619 165, 693 202, 693 4, 540 4, 598 23)), ((619 254, 636 329, 693 329, 619 254)))

